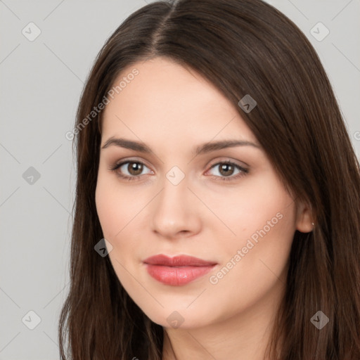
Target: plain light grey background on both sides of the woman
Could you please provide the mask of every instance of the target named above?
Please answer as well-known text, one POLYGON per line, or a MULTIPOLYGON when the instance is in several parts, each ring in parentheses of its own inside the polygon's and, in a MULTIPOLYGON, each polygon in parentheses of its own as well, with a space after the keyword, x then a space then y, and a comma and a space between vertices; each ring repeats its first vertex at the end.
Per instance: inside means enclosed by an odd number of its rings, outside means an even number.
MULTIPOLYGON (((319 53, 359 156, 360 0, 267 2, 319 53), (319 22, 330 31, 321 41, 313 36, 325 34, 314 27, 319 22)), ((59 357, 75 193, 72 141, 65 133, 73 128, 84 80, 105 39, 144 5, 0 0, 0 360, 59 357), (29 37, 39 30, 29 23, 41 31, 33 41, 29 37)))

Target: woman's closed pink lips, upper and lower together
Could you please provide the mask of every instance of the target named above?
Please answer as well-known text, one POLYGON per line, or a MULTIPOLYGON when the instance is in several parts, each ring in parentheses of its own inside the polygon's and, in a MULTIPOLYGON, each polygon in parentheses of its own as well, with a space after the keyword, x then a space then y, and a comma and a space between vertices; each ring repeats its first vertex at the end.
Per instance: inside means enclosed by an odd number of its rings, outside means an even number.
POLYGON ((198 257, 179 255, 167 257, 155 255, 143 260, 148 274, 166 285, 180 286, 204 276, 217 262, 209 262, 198 257))

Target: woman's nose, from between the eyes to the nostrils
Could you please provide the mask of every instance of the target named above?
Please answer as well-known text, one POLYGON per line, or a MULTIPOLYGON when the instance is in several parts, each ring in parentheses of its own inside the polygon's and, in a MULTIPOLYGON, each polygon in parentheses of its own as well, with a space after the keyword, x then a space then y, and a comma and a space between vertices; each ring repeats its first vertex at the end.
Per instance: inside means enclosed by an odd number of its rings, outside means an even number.
POLYGON ((153 201, 152 227, 164 238, 189 237, 201 229, 200 200, 188 188, 187 177, 177 185, 167 178, 153 201))

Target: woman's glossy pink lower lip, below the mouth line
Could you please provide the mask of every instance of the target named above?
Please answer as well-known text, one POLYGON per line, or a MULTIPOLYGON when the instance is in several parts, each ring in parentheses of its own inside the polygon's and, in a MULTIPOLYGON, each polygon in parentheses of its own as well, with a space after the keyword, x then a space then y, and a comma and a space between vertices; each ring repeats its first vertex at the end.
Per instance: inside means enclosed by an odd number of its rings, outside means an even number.
POLYGON ((215 265, 209 266, 162 266, 146 264, 146 270, 150 276, 153 276, 160 283, 173 286, 181 286, 195 278, 204 276, 214 269, 215 265))

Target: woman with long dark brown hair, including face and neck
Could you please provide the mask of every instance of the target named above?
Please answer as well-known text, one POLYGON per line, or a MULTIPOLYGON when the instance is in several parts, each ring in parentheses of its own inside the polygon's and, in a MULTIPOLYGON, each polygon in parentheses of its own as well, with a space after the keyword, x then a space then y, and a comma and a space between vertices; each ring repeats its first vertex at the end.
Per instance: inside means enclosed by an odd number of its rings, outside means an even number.
POLYGON ((144 6, 98 54, 74 134, 62 359, 360 359, 359 162, 283 14, 144 6))

